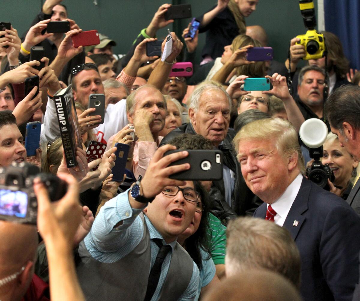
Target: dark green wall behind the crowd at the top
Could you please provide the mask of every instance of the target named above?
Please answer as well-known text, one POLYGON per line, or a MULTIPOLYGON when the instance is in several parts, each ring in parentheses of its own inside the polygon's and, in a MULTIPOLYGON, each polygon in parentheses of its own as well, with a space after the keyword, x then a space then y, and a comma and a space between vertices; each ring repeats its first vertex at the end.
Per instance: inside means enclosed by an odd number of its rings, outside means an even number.
MULTIPOLYGON (((29 27, 33 17, 39 12, 41 0, 2 0, 1 17, 12 22, 20 35, 29 27), (5 6, 4 6, 5 4, 5 6)), ((139 31, 151 21, 153 14, 163 4, 163 0, 64 0, 69 17, 83 30, 97 29, 117 42, 115 53, 126 53, 139 31)), ((173 0, 174 4, 190 3, 193 17, 206 12, 216 1, 173 0)), ((316 7, 316 1, 315 1, 316 7)), ((170 25, 180 33, 191 19, 175 21, 170 25), (181 29, 181 30, 180 30, 181 29)), ((298 0, 259 0, 256 11, 246 19, 247 25, 261 25, 269 36, 269 46, 274 48, 276 60, 287 56, 289 40, 306 32, 303 26, 298 0)), ((164 28, 158 37, 165 36, 164 28)), ((199 53, 204 45, 205 33, 199 37, 199 53)), ((199 55, 198 55, 199 58, 199 55)))

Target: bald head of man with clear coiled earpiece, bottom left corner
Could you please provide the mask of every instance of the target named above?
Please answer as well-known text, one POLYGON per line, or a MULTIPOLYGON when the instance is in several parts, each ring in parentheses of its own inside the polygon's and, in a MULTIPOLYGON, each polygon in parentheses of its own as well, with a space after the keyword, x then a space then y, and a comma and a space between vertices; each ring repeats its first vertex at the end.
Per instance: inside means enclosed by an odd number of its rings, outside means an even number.
POLYGON ((27 291, 34 273, 36 228, 0 221, 0 237, 0 300, 18 301, 27 291), (6 283, 1 285, 3 281, 6 283))

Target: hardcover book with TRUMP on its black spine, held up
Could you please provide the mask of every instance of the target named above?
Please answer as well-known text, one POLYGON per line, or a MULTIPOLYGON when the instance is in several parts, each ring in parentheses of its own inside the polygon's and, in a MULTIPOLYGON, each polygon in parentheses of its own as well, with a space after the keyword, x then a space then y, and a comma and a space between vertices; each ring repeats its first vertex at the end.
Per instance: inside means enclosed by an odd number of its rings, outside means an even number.
POLYGON ((82 149, 82 140, 71 85, 58 91, 54 95, 54 101, 66 165, 67 167, 75 167, 77 166, 76 148, 80 147, 82 149))

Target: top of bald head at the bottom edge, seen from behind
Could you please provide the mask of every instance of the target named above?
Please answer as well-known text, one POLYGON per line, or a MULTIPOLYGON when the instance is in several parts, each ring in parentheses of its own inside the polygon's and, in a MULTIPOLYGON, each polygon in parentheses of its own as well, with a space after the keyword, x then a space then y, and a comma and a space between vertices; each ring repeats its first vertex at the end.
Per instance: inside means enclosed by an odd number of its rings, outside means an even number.
POLYGON ((301 301, 296 288, 269 270, 247 270, 219 282, 204 301, 301 301))

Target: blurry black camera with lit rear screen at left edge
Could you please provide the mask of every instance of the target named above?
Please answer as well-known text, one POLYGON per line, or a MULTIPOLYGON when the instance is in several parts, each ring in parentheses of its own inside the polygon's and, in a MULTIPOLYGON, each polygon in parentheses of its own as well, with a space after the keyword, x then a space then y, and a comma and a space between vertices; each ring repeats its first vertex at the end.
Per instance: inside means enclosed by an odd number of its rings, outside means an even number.
POLYGON ((33 180, 39 177, 48 189, 50 201, 58 201, 67 184, 52 174, 39 174, 39 168, 29 163, 12 163, 0 167, 0 220, 36 225, 37 199, 33 180))

